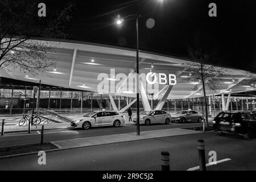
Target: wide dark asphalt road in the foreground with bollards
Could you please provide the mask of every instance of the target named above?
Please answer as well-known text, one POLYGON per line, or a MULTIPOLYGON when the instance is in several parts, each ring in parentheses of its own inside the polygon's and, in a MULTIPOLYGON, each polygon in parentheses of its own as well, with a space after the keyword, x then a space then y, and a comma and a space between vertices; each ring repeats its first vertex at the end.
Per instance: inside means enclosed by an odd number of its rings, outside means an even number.
POLYGON ((36 154, 0 159, 0 170, 160 170, 161 151, 170 152, 171 170, 187 170, 199 164, 197 139, 205 140, 207 162, 209 151, 231 159, 207 170, 256 169, 256 139, 210 132, 48 152, 43 166, 36 154))

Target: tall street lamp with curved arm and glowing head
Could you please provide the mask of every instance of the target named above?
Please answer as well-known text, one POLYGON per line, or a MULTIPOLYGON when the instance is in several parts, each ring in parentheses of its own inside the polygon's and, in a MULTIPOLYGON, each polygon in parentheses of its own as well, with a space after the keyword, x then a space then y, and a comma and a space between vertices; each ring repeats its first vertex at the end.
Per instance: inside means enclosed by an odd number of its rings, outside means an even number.
POLYGON ((139 118, 139 18, 141 17, 141 15, 139 14, 133 14, 133 15, 128 15, 128 16, 125 16, 125 18, 120 18, 120 16, 118 16, 118 19, 117 19, 117 24, 120 25, 123 23, 123 21, 129 17, 135 17, 136 18, 136 35, 137 35, 137 54, 136 54, 136 58, 137 58, 137 70, 136 70, 136 73, 137 73, 137 135, 139 135, 139 121, 140 121, 140 118, 139 118))

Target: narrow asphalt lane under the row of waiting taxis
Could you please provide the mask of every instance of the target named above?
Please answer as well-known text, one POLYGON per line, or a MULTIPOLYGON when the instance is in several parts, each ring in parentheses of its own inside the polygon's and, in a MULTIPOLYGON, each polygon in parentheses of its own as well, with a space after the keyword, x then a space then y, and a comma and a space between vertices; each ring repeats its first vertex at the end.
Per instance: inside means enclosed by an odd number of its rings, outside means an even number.
MULTIPOLYGON (((180 127, 195 127, 202 126, 203 123, 170 123, 170 125, 155 124, 150 126, 141 125, 141 131, 148 130, 162 130, 180 127)), ((44 142, 51 142, 56 140, 83 138, 83 137, 96 137, 100 135, 112 135, 121 133, 136 132, 136 125, 123 125, 121 127, 95 127, 90 130, 82 129, 61 129, 61 130, 46 130, 44 131, 44 142)), ((20 144, 32 144, 40 142, 40 133, 33 131, 31 134, 27 132, 22 133, 7 133, 0 137, 0 147, 16 146, 20 144)))

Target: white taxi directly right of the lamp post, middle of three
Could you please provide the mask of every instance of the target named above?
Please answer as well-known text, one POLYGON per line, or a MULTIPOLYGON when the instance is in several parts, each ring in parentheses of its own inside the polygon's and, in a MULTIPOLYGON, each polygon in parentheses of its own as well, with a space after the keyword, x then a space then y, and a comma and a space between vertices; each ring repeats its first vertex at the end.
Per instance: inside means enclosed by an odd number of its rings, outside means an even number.
MULTIPOLYGON (((142 113, 139 123, 150 125, 151 123, 166 123, 171 122, 171 114, 163 110, 145 111, 142 113)), ((133 122, 137 123, 137 116, 133 118, 133 122)))

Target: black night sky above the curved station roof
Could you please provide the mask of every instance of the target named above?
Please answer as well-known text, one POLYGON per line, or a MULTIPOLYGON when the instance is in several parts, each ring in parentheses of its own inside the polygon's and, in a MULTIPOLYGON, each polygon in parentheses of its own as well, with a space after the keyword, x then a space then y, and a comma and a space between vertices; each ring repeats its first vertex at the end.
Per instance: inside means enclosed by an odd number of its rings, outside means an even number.
MULTIPOLYGON (((70 39, 135 48, 135 20, 115 26, 117 15, 142 15, 140 49, 188 58, 195 44, 217 52, 220 65, 256 72, 255 0, 86 0, 75 1, 77 9, 69 27, 70 39), (217 17, 208 16, 208 5, 217 4, 217 17), (148 18, 155 20, 147 28, 148 18)), ((55 1, 63 2, 63 1, 55 1)))

